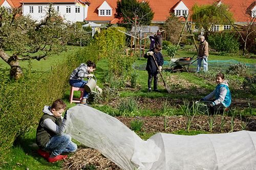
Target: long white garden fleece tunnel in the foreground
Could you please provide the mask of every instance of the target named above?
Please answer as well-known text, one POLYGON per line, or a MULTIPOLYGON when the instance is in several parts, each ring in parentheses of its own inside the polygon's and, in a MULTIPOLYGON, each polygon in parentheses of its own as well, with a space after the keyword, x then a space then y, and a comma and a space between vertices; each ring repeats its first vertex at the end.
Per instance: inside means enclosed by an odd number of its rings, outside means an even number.
POLYGON ((70 108, 67 119, 68 134, 123 170, 256 169, 256 132, 157 133, 144 141, 115 117, 88 106, 70 108))

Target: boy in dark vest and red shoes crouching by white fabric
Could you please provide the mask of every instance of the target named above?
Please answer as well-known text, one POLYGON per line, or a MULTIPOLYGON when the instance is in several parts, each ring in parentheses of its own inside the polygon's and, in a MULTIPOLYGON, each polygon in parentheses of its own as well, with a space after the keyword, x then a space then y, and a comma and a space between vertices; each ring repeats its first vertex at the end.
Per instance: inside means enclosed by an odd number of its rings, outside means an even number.
POLYGON ((77 145, 71 141, 71 136, 64 133, 66 130, 67 111, 65 116, 62 113, 66 110, 67 104, 61 99, 53 102, 52 106, 45 106, 36 130, 37 152, 49 162, 56 162, 66 159, 68 155, 62 153, 75 152, 77 145), (51 154, 49 152, 51 152, 51 154))

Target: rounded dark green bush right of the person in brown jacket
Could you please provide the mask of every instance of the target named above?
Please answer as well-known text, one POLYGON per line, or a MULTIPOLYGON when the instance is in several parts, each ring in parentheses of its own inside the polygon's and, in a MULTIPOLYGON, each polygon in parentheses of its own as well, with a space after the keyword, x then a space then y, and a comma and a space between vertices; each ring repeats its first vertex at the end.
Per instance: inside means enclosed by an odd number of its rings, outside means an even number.
POLYGON ((219 52, 238 53, 240 43, 233 32, 222 31, 208 36, 209 46, 219 52))

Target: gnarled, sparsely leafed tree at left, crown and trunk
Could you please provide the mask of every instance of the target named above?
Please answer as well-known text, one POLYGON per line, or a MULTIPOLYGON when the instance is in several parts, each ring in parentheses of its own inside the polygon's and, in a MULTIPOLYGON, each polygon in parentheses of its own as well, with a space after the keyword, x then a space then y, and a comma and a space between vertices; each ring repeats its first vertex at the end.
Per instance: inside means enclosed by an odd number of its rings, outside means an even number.
POLYGON ((10 75, 16 79, 23 76, 19 61, 46 60, 67 50, 66 42, 70 39, 66 31, 69 25, 53 4, 45 9, 45 17, 40 21, 21 15, 21 12, 21 8, 0 7, 0 57, 10 65, 10 75), (12 55, 7 54, 10 50, 12 55))

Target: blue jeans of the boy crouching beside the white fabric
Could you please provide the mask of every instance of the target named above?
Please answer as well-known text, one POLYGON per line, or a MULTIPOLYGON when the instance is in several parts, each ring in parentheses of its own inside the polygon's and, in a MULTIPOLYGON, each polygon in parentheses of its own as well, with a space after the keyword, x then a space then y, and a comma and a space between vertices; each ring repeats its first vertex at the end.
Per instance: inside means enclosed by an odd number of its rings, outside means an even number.
POLYGON ((54 156, 58 156, 63 153, 75 152, 77 145, 71 141, 70 135, 64 133, 63 135, 53 136, 43 149, 52 151, 54 156))

